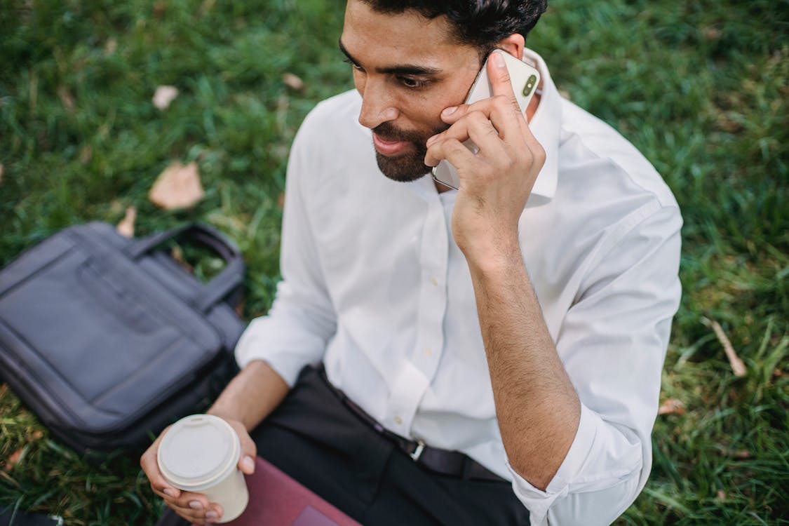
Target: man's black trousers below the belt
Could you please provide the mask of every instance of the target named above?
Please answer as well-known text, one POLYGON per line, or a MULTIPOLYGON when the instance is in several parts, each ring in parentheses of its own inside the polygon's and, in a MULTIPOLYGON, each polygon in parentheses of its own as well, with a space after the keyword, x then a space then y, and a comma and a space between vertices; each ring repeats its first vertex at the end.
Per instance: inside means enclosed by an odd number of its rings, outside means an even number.
MULTIPOLYGON (((443 476, 415 464, 350 412, 313 368, 251 435, 260 457, 361 524, 529 524, 510 483, 443 476)), ((159 521, 181 524, 171 510, 159 521)))

